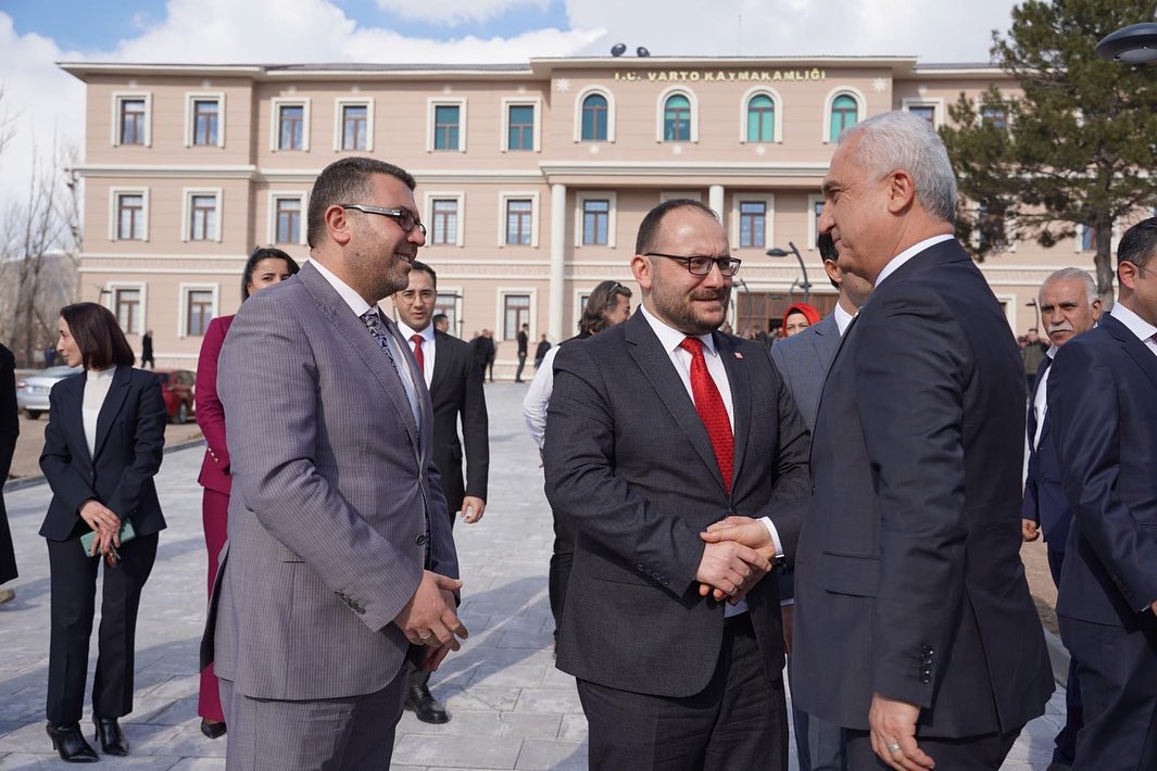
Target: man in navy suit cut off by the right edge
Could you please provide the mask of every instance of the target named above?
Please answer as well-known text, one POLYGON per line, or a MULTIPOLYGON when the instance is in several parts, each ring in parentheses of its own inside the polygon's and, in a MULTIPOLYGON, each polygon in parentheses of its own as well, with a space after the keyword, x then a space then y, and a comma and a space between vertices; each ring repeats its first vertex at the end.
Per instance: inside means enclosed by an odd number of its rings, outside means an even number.
POLYGON ((1157 768, 1157 218, 1121 238, 1120 296, 1048 372, 1073 509, 1056 615, 1077 661, 1075 769, 1157 768))

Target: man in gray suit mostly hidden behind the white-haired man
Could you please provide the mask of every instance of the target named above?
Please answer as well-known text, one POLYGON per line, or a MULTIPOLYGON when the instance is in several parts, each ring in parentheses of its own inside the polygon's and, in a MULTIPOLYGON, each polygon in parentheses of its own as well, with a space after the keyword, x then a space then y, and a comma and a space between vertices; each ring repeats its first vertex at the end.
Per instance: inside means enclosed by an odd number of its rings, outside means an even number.
MULTIPOLYGON (((823 321, 810 326, 799 334, 781 340, 772 347, 772 362, 791 392, 799 415, 808 429, 816 424, 819 392, 824 387, 827 368, 835 358, 840 338, 852 324, 860 306, 871 294, 871 284, 864 279, 840 269, 839 253, 830 233, 820 233, 816 239, 824 258, 824 270, 828 281, 840 292, 835 310, 823 321)), ((780 576, 780 596, 783 601, 783 646, 791 654, 793 603, 795 602, 795 571, 786 570, 780 576)), ((790 667, 789 677, 790 682, 790 667)), ((847 768, 843 754, 843 732, 835 724, 809 716, 793 704, 791 718, 795 722, 796 754, 799 771, 842 771, 847 768)))

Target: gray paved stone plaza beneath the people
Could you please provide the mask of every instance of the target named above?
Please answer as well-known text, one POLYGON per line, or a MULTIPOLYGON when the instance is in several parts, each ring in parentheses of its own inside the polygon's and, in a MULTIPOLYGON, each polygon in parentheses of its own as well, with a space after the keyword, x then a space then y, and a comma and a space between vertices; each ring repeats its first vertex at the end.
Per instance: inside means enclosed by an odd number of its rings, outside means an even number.
MULTIPOLYGON (((486 387, 489 504, 479 524, 455 529, 465 581, 460 613, 471 636, 432 681, 454 719, 430 726, 406 713, 393 768, 583 769, 587 724, 573 680, 554 668, 551 654, 546 572, 553 534, 538 454, 522 423, 525 386, 486 387)), ((224 768, 226 741, 204 737, 197 718, 206 562, 196 481, 201 455, 200 446, 171 452, 157 476, 169 528, 138 624, 134 711, 123 721, 132 754, 103 761, 117 768, 224 768)), ((65 768, 44 733, 49 571, 37 529, 49 498, 46 484, 6 495, 21 577, 10 585, 16 600, 0 608, 0 769, 65 768)), ((91 653, 90 682, 95 642, 91 653)), ((1048 713, 1022 734, 1005 769, 1046 768, 1062 709, 1059 691, 1048 713)), ((87 711, 83 726, 91 739, 87 711)))

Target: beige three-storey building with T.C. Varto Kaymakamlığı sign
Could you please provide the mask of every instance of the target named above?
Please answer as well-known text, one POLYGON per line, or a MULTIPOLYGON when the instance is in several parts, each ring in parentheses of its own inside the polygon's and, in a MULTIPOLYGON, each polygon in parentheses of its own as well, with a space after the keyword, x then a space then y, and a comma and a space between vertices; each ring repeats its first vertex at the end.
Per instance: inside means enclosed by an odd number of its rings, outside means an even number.
MULTIPOLYGON (((672 197, 723 218, 743 260, 736 331, 803 299, 795 257, 767 255, 789 243, 828 311, 816 221, 840 131, 889 110, 941 125, 961 91, 1016 91, 986 65, 911 57, 62 68, 87 86, 81 298, 108 305, 137 350, 153 329, 160 366, 193 369, 209 320, 239 305, 248 252, 304 260, 314 178, 364 154, 417 177, 440 310, 460 338, 494 331, 500 377, 523 323, 558 342, 596 283, 636 289, 635 231, 672 197)), ((1091 246, 1011 244, 981 265, 1016 332, 1036 326, 1042 279, 1091 268, 1091 246)))

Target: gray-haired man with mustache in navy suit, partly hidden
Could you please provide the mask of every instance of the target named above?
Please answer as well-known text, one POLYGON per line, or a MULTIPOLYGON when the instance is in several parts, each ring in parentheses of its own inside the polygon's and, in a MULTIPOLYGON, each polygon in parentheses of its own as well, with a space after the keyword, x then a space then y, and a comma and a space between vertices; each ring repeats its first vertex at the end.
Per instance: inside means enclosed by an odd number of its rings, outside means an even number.
MULTIPOLYGON (((1053 346, 1037 370, 1037 379, 1029 402, 1029 474, 1024 483, 1022 529, 1025 541, 1036 541, 1041 531, 1048 547, 1048 569, 1053 583, 1061 585, 1061 565, 1064 562, 1064 541, 1069 536, 1073 511, 1061 487, 1061 468, 1049 430, 1047 399, 1048 370, 1061 346, 1097 325, 1100 298, 1097 284, 1088 272, 1061 268, 1045 280, 1038 297, 1041 321, 1053 346)), ((1081 687, 1077 684, 1077 662, 1069 657, 1069 674, 1064 691, 1064 727, 1056 734, 1053 766, 1073 765, 1076 736, 1081 729, 1081 687)))

